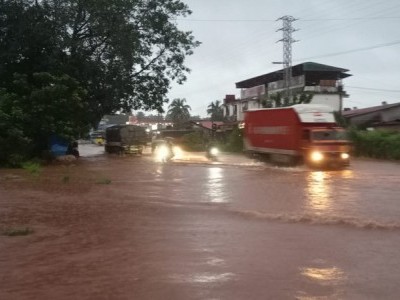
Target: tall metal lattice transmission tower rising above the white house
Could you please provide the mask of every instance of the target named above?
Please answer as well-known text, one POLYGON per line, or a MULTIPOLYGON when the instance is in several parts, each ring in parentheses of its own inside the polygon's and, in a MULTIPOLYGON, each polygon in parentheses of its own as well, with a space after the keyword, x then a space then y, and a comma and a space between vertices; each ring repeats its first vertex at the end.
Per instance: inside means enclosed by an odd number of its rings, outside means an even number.
POLYGON ((279 28, 277 31, 283 32, 283 38, 278 42, 283 42, 283 66, 284 66, 284 82, 285 82, 285 90, 286 90, 286 98, 288 101, 291 99, 291 79, 292 79, 292 44, 297 42, 292 38, 292 33, 297 31, 292 26, 292 23, 297 19, 292 16, 283 16, 279 18, 277 21, 282 20, 283 26, 279 28))

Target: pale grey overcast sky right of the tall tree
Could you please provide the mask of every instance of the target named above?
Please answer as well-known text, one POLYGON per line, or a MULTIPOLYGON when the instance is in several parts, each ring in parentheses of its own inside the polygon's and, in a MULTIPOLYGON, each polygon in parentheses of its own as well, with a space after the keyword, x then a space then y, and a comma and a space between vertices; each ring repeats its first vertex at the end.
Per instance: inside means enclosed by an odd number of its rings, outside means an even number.
POLYGON ((186 98, 192 115, 226 94, 239 95, 235 83, 281 69, 282 27, 278 18, 298 20, 292 64, 306 61, 348 69, 343 80, 350 95, 344 107, 400 102, 400 1, 398 0, 182 0, 193 11, 179 19, 202 42, 186 65, 183 85, 170 99, 186 98))

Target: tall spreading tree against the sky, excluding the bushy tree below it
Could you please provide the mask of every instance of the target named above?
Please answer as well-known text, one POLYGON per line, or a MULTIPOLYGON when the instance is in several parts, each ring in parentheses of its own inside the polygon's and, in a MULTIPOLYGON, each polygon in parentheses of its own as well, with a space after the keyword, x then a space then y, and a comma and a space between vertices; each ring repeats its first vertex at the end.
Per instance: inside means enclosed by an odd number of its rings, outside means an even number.
MULTIPOLYGON (((14 73, 68 74, 85 88, 87 118, 158 110, 184 60, 199 45, 175 19, 191 13, 179 0, 3 0, 0 78, 14 73)), ((5 87, 4 85, 1 85, 5 87)))

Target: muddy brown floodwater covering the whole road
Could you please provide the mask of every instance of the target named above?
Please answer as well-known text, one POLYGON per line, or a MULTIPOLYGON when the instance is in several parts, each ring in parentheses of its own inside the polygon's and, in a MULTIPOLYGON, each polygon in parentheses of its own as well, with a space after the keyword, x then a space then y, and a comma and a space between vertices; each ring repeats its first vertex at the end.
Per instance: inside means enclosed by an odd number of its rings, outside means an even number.
POLYGON ((80 150, 0 169, 0 299, 400 297, 399 163, 80 150))

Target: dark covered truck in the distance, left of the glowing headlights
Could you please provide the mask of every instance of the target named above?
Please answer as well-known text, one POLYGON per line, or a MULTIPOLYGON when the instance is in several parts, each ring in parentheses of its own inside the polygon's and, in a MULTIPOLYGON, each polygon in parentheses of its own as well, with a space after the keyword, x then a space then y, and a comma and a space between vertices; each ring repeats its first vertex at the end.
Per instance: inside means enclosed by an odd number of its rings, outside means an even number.
POLYGON ((107 153, 142 154, 148 141, 146 129, 137 125, 107 127, 105 136, 107 153))

